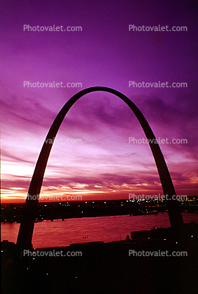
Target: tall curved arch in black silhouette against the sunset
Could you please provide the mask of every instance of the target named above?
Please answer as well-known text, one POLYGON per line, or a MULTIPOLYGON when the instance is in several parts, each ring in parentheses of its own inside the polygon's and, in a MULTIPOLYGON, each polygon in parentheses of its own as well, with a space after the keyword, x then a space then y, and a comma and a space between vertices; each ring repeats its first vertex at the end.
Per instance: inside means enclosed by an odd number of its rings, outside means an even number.
MULTIPOLYGON (((65 115, 70 110, 70 108, 73 106, 73 104, 85 94, 88 94, 94 91, 109 92, 121 98, 129 106, 129 108, 131 108, 133 113, 138 118, 138 121, 143 127, 143 130, 149 142, 154 142, 155 136, 152 132, 152 129, 150 128, 150 125, 147 123, 147 120, 145 120, 145 117, 137 108, 137 106, 124 94, 121 94, 119 91, 108 88, 108 87, 90 87, 90 88, 81 90, 77 94, 72 96, 72 98, 70 98, 70 100, 67 101, 67 103, 65 103, 65 106, 62 107, 58 115, 55 117, 55 120, 53 124, 51 125, 51 128, 49 129, 49 132, 44 141, 44 145, 41 148, 41 152, 37 160, 37 165, 34 169, 32 181, 29 185, 29 191, 28 191, 29 196, 39 196, 39 193, 41 191, 41 185, 44 179, 44 172, 46 170, 46 165, 48 162, 48 157, 51 152, 51 148, 53 146, 53 144, 49 144, 46 142, 48 142, 50 139, 53 140, 53 138, 55 138, 56 134, 58 133, 60 124, 62 123, 62 120, 64 119, 65 115)), ((183 235, 183 218, 180 213, 178 201, 172 200, 172 196, 176 195, 176 191, 173 187, 173 182, 171 180, 168 167, 166 165, 164 156, 161 153, 161 149, 159 148, 158 143, 150 143, 150 148, 152 150, 155 163, 157 165, 157 170, 159 173, 159 178, 161 180, 161 186, 163 188, 164 195, 167 194, 169 197, 169 200, 167 201, 167 208, 168 208, 169 219, 170 219, 171 227, 173 229, 173 233, 177 239, 181 239, 181 236, 183 235)), ((26 199, 25 207, 22 214, 22 222, 20 224, 20 230, 18 233, 18 241, 17 241, 17 245, 19 245, 20 248, 32 247, 32 234, 34 230, 34 221, 37 216, 38 202, 39 202, 39 197, 34 197, 34 200, 31 197, 27 197, 26 199)))

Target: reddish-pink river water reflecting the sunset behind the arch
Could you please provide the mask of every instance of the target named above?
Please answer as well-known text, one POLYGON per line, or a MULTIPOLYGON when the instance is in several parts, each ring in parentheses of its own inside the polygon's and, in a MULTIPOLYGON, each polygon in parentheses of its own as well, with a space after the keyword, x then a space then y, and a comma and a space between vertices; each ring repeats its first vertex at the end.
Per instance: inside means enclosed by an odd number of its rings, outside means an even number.
MULTIPOLYGON (((183 212, 184 222, 198 219, 198 215, 183 212)), ((169 227, 169 215, 118 215, 111 217, 84 217, 79 219, 65 219, 37 222, 34 224, 32 244, 34 248, 67 246, 71 243, 93 241, 125 240, 131 231, 150 230, 154 226, 169 227)), ((18 237, 18 223, 1 223, 1 241, 8 240, 16 243, 18 237)))

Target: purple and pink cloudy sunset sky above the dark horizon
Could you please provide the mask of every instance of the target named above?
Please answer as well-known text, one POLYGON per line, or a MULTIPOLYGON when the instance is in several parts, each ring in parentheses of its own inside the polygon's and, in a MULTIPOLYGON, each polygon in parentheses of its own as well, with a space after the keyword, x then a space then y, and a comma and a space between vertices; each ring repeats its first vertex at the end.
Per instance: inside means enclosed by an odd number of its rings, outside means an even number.
MULTIPOLYGON (((178 195, 197 195, 197 4, 195 1, 8 1, 1 7, 1 189, 27 195, 41 146, 62 106, 81 89, 111 87, 131 98, 161 139, 178 195), (81 26, 81 32, 27 32, 29 26, 81 26), (128 25, 187 26, 187 32, 133 32, 128 25), (31 88, 29 82, 80 82, 31 88), (186 88, 133 88, 186 82, 186 88), (26 139, 25 139, 26 138, 26 139), (27 142, 29 138, 29 142, 27 142), (34 141, 33 141, 34 140, 34 141), (35 142, 37 141, 37 142, 35 142)), ((87 94, 71 108, 54 143, 41 195, 86 199, 162 193, 138 120, 117 96, 87 94)))

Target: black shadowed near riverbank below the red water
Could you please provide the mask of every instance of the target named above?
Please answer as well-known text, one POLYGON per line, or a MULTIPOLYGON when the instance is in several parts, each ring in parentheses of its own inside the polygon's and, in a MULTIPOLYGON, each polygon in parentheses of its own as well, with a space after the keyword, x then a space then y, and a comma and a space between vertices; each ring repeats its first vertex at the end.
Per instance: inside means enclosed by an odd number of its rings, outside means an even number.
POLYGON ((39 249, 82 253, 73 257, 24 257, 15 244, 4 241, 2 293, 198 293, 196 234, 183 245, 139 238, 39 249), (128 256, 128 250, 186 251, 187 257, 128 256))

